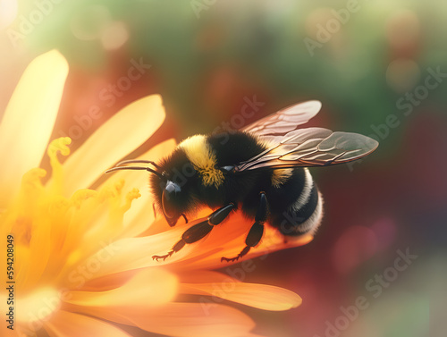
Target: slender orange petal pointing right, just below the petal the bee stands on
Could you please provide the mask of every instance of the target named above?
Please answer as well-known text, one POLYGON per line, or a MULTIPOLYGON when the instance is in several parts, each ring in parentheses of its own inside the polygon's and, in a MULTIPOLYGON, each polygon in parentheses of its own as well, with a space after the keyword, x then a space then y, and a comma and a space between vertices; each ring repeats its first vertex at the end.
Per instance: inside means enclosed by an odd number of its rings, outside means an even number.
POLYGON ((293 291, 272 285, 243 283, 227 276, 223 282, 181 284, 181 292, 195 295, 209 295, 214 298, 231 300, 246 306, 282 311, 298 307, 302 299, 293 291))

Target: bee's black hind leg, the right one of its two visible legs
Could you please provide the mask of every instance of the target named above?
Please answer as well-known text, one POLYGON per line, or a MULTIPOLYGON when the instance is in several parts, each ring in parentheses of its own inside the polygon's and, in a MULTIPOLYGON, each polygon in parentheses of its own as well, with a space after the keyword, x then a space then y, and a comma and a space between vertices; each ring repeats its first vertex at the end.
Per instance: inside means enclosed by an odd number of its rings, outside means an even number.
POLYGON ((252 247, 255 247, 264 235, 264 223, 267 221, 268 215, 268 203, 266 198, 266 193, 261 192, 261 198, 259 200, 259 207, 257 208, 257 213, 255 216, 255 223, 250 228, 249 234, 245 239, 245 248, 239 253, 237 257, 222 257, 221 262, 234 262, 240 259, 240 257, 245 256, 252 247))

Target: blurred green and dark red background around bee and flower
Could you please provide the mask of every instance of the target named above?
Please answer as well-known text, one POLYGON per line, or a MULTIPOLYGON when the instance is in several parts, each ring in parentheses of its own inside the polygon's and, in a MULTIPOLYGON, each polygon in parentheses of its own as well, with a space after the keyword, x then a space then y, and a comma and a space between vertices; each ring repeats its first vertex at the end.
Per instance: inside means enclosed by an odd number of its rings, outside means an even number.
POLYGON ((308 99, 323 102, 309 125, 379 140, 360 162, 312 170, 325 197, 315 240, 246 275, 303 304, 240 309, 273 337, 444 335, 446 3, 0 0, 0 29, 0 114, 30 60, 57 48, 71 68, 53 138, 72 148, 154 93, 166 121, 132 156, 308 99), (256 114, 240 117, 249 102, 256 114))

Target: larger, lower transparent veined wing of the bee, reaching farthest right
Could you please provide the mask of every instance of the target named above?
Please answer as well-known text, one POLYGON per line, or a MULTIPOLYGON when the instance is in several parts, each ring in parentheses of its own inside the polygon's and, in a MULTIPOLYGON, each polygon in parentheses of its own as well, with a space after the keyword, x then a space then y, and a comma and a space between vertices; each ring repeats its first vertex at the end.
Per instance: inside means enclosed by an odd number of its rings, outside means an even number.
POLYGON ((299 129, 272 138, 264 152, 235 166, 234 172, 342 164, 369 155, 378 145, 375 139, 358 133, 299 129))

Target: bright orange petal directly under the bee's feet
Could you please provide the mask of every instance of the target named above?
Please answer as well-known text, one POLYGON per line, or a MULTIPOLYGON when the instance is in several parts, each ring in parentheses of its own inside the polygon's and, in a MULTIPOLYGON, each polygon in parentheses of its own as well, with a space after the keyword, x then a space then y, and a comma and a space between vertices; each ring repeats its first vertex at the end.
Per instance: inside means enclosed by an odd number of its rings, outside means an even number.
MULTIPOLYGON (((207 213, 208 214, 208 213, 207 213)), ((159 220, 164 222, 164 220, 159 220)), ((232 221, 215 226, 213 231, 204 239, 196 243, 186 245, 181 251, 173 254, 166 260, 156 261, 154 255, 163 255, 172 249, 173 245, 181 239, 181 235, 194 223, 177 224, 166 232, 139 238, 126 238, 117 240, 109 246, 101 249, 92 258, 101 260, 101 256, 107 252, 113 252, 113 258, 101 264, 101 269, 95 277, 107 274, 121 273, 132 269, 148 266, 167 265, 175 267, 176 271, 215 269, 229 265, 221 262, 221 257, 234 257, 244 248, 244 240, 249 231, 249 223, 238 213, 234 214, 232 221), (233 221, 234 220, 234 221, 233 221)), ((167 225, 166 225, 167 226, 167 225)), ((265 238, 259 246, 251 249, 243 260, 265 255, 275 250, 287 249, 304 245, 312 240, 309 235, 304 235, 293 240, 288 239, 284 243, 283 235, 274 228, 266 226, 265 238)))

